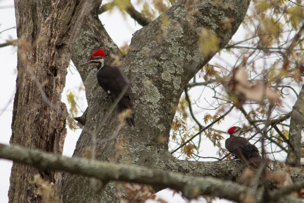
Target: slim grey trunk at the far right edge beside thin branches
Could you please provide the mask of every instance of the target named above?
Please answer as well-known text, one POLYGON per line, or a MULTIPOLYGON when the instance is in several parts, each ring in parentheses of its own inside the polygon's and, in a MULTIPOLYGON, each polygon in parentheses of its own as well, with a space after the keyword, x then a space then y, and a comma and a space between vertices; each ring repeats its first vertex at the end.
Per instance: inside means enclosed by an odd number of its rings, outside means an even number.
POLYGON ((304 86, 299 93, 295 105, 292 107, 288 139, 292 147, 288 146, 286 164, 301 166, 302 129, 304 125, 304 86))

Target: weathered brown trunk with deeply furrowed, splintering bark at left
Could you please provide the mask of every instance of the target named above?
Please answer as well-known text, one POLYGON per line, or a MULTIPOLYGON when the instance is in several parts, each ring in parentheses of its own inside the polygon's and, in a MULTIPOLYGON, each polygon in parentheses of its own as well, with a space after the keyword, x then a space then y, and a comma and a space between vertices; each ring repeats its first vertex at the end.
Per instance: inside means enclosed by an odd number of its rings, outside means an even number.
MULTIPOLYGON (((92 8, 92 2, 15 0, 14 3, 18 75, 10 143, 62 154, 67 108, 61 102, 61 94, 84 11, 92 8)), ((37 173, 54 182, 60 192, 61 173, 13 163, 9 202, 39 201, 31 183, 37 173)))

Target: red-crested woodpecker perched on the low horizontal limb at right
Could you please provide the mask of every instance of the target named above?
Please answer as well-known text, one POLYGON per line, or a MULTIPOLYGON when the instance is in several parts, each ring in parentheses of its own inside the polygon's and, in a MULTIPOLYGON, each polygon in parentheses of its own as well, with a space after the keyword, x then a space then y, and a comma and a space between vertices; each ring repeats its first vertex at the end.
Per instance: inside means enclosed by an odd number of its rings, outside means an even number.
MULTIPOLYGON (((227 131, 230 134, 230 138, 226 139, 225 147, 228 151, 246 163, 248 167, 257 170, 262 162, 262 157, 259 154, 259 150, 253 144, 251 144, 246 138, 239 137, 243 133, 242 128, 233 126, 227 131)), ((269 166, 267 166, 271 169, 269 166)))

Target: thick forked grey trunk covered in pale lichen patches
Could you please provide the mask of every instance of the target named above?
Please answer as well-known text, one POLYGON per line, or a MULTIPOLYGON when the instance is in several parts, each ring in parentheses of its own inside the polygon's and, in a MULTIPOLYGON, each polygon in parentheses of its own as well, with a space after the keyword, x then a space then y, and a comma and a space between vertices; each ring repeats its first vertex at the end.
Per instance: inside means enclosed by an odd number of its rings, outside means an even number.
MULTIPOLYGON (((223 1, 221 5, 214 1, 180 0, 148 26, 134 33, 130 51, 122 62, 129 79, 136 76, 131 84, 136 98, 136 127, 126 126, 115 138, 101 143, 102 139, 112 136, 117 127, 116 109, 97 135, 97 160, 239 180, 237 166, 230 167, 228 162, 190 162, 175 159, 168 152, 168 141, 175 109, 184 86, 215 54, 203 57, 199 51, 201 30, 213 30, 219 37, 219 48, 225 46, 242 22, 248 5, 247 0, 228 0, 223 1), (197 12, 192 15, 188 11, 197 12), (169 19, 168 27, 161 23, 166 18, 169 19), (222 22, 226 18, 234 19, 231 30, 222 29, 222 22), (146 86, 148 81, 152 83, 146 86), (121 153, 118 160, 115 156, 120 152, 115 146, 123 140, 125 152, 121 153)), ((72 61, 85 84, 88 101, 85 128, 73 156, 82 157, 91 152, 92 133, 100 127, 98 124, 112 104, 99 99, 105 97, 106 93, 98 86, 96 69, 78 66, 87 61, 93 51, 100 48, 105 49, 108 59, 110 54, 120 53, 97 16, 91 15, 81 28, 72 54, 72 61)), ((232 164, 236 163, 239 162, 232 164)), ((88 178, 66 174, 63 187, 64 202, 117 201, 112 182, 107 184, 101 193, 96 194, 92 191, 88 178)))

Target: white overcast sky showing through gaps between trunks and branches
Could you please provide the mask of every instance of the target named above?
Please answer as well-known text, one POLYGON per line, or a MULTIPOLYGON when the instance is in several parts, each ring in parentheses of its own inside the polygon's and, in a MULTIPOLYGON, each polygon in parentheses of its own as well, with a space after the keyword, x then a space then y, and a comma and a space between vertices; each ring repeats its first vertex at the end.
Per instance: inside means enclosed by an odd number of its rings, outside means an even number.
MULTIPOLYGON (((12 0, 0 0, 0 32, 2 30, 11 28, 13 26, 16 26, 15 21, 15 12, 13 8, 13 1, 12 0), (4 8, 5 9, 1 9, 4 8), (8 7, 8 8, 7 8, 8 7)), ((121 14, 116 10, 112 13, 105 12, 100 16, 100 19, 102 23, 105 26, 105 29, 108 31, 111 38, 114 40, 114 42, 118 46, 122 46, 123 44, 127 43, 130 44, 130 40, 132 37, 132 34, 141 28, 133 19, 131 19, 128 15, 126 15, 126 19, 123 19, 121 14), (115 22, 115 23, 113 23, 115 22), (113 26, 113 24, 115 26, 113 26)), ((242 32, 242 27, 240 28, 240 32, 237 32, 233 39, 235 41, 239 41, 244 38, 244 32, 242 32)), ((0 34, 0 44, 4 43, 5 40, 8 39, 16 39, 16 29, 12 29, 9 31, 5 31, 4 33, 0 34)), ((227 61, 230 60, 231 56, 227 55, 227 58, 225 58, 227 61)), ((9 139, 11 136, 11 122, 12 122, 12 106, 13 106, 13 97, 15 93, 15 87, 16 87, 16 65, 17 65, 17 54, 16 54, 16 47, 4 47, 0 48, 0 67, 2 74, 0 75, 0 85, 4 88, 0 88, 0 95, 2 95, 2 99, 0 100, 0 110, 5 108, 7 106, 7 103, 9 103, 8 107, 5 109, 3 114, 0 116, 0 127, 2 130, 2 135, 0 136, 0 143, 9 144, 9 139)), ((212 61, 219 60, 218 56, 212 59, 212 61)), ((62 96, 62 101, 64 103, 67 103, 66 100, 66 93, 68 89, 75 89, 76 94, 79 93, 79 104, 81 106, 81 110, 85 110, 86 108, 86 100, 85 100, 85 93, 84 91, 78 91, 78 88, 81 86, 81 78, 78 74, 78 72, 74 68, 70 68, 71 71, 68 69, 67 74, 67 80, 66 80, 66 86, 64 89, 64 94, 62 96)), ((195 89, 192 89, 189 92, 190 95, 196 95, 195 89)), ((212 93, 208 95, 209 97, 212 97, 212 93)), ((208 97, 206 96, 206 97, 208 97)), ((204 102, 204 101, 202 101, 204 102)), ((206 103, 206 106, 208 104, 206 103)), ((291 106, 292 107, 292 106, 291 106)), ((69 107, 68 107, 69 108, 69 107)), ((201 109, 199 108, 193 108, 195 115, 202 118, 205 114, 201 109)), ((0 111, 1 114, 1 111, 0 111)), ((232 116, 238 117, 240 116, 240 111, 236 111, 232 113, 232 116)), ((225 127, 223 130, 227 130, 230 126, 233 126, 235 124, 236 120, 230 119, 226 120, 225 124, 223 124, 225 127)), ((201 120, 201 124, 203 124, 203 121, 201 120)), ((77 131, 70 131, 68 129, 66 142, 64 144, 64 156, 71 157, 76 145, 76 142, 78 140, 78 137, 81 133, 81 130, 77 131)), ((202 142, 203 149, 206 149, 205 151, 209 154, 206 154, 206 156, 216 156, 217 148, 213 147, 213 144, 209 140, 204 140, 202 142)), ((204 155, 205 156, 205 155, 204 155)), ((214 159, 210 159, 212 161, 214 159)), ((206 159, 208 161, 208 159, 206 159)), ((0 199, 1 202, 5 203, 8 202, 7 192, 9 189, 9 177, 10 177, 10 169, 12 166, 11 161, 0 159, 0 199)), ((185 202, 179 195, 175 195, 174 198, 172 198, 172 191, 164 190, 158 193, 161 198, 164 200, 167 200, 168 202, 174 202, 174 203, 183 203, 185 202)), ((193 201, 197 202, 197 201, 193 201)), ((200 200, 199 202, 204 202, 200 200)), ((225 200, 221 200, 220 202, 225 202, 225 200)), ((230 201, 229 201, 230 202, 230 201)))

